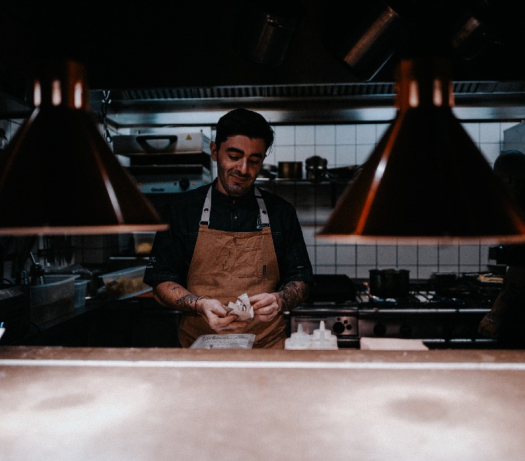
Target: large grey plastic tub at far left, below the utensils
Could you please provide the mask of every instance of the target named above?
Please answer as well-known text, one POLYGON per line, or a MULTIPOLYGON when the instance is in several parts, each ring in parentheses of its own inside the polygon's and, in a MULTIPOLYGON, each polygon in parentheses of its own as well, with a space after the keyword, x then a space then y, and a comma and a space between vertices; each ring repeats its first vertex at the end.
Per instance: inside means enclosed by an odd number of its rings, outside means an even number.
POLYGON ((45 283, 30 288, 31 322, 40 324, 73 311, 78 275, 46 275, 45 283))

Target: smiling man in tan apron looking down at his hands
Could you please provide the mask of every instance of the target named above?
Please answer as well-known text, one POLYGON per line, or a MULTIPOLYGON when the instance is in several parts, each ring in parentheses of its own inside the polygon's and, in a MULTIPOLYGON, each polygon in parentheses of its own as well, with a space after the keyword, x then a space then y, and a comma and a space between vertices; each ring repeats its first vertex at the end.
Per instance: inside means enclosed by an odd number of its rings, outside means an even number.
POLYGON ((183 312, 183 347, 206 334, 251 333, 254 348, 283 348, 283 312, 308 296, 312 265, 296 210, 254 184, 273 141, 261 114, 228 112, 210 143, 217 178, 165 209, 169 230, 155 237, 144 282, 183 312))

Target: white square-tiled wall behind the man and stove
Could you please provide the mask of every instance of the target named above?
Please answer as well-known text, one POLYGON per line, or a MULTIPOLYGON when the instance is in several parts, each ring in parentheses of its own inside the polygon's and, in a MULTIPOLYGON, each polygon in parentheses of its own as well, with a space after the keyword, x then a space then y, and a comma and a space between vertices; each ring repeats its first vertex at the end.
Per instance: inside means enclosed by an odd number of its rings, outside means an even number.
MULTIPOLYGON (((518 122, 463 123, 468 135, 492 166, 502 150, 504 130, 518 122)), ((389 126, 388 123, 348 125, 289 125, 275 126, 275 144, 266 163, 278 165, 282 161, 302 161, 319 155, 328 161, 328 168, 361 165, 389 126)), ((19 123, 7 125, 7 133, 14 134, 19 123)), ((214 138, 209 126, 193 127, 214 138)), ((9 139, 9 138, 8 138, 9 139)), ((216 176, 213 164, 212 176, 216 176)), ((410 270, 413 279, 425 279, 435 272, 480 272, 487 270, 486 245, 342 245, 316 240, 318 232, 332 210, 329 196, 322 187, 273 189, 292 202, 298 210, 303 234, 317 274, 347 274, 352 278, 368 278, 374 268, 410 270)), ((95 239, 96 240, 96 239, 95 239)), ((92 241, 84 238, 79 262, 106 259, 114 242, 107 239, 92 241)))

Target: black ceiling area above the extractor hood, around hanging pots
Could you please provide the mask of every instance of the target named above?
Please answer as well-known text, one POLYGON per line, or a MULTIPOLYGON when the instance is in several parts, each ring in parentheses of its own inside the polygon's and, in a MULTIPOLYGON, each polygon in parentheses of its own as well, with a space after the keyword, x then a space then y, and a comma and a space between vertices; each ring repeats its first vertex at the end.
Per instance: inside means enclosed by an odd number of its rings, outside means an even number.
MULTIPOLYGON (((486 29, 475 56, 452 53, 454 79, 525 79, 525 2, 385 1, 403 18, 406 30, 392 59, 370 80, 392 81, 403 54, 448 48, 447 37, 466 13, 486 29)), ((363 81, 343 61, 337 41, 341 45, 359 28, 374 2, 339 3, 344 2, 3 1, 0 62, 26 75, 42 59, 78 59, 87 65, 92 89, 363 81), (284 60, 275 67, 239 51, 249 30, 240 19, 247 4, 297 21, 284 60)))

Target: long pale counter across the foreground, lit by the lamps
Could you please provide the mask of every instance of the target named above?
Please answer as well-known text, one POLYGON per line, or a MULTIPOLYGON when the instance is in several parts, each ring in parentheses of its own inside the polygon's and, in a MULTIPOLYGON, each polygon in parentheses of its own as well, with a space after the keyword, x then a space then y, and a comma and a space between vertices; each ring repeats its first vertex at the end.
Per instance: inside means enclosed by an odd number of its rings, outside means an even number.
POLYGON ((0 459, 522 461, 525 351, 0 347, 0 459))

